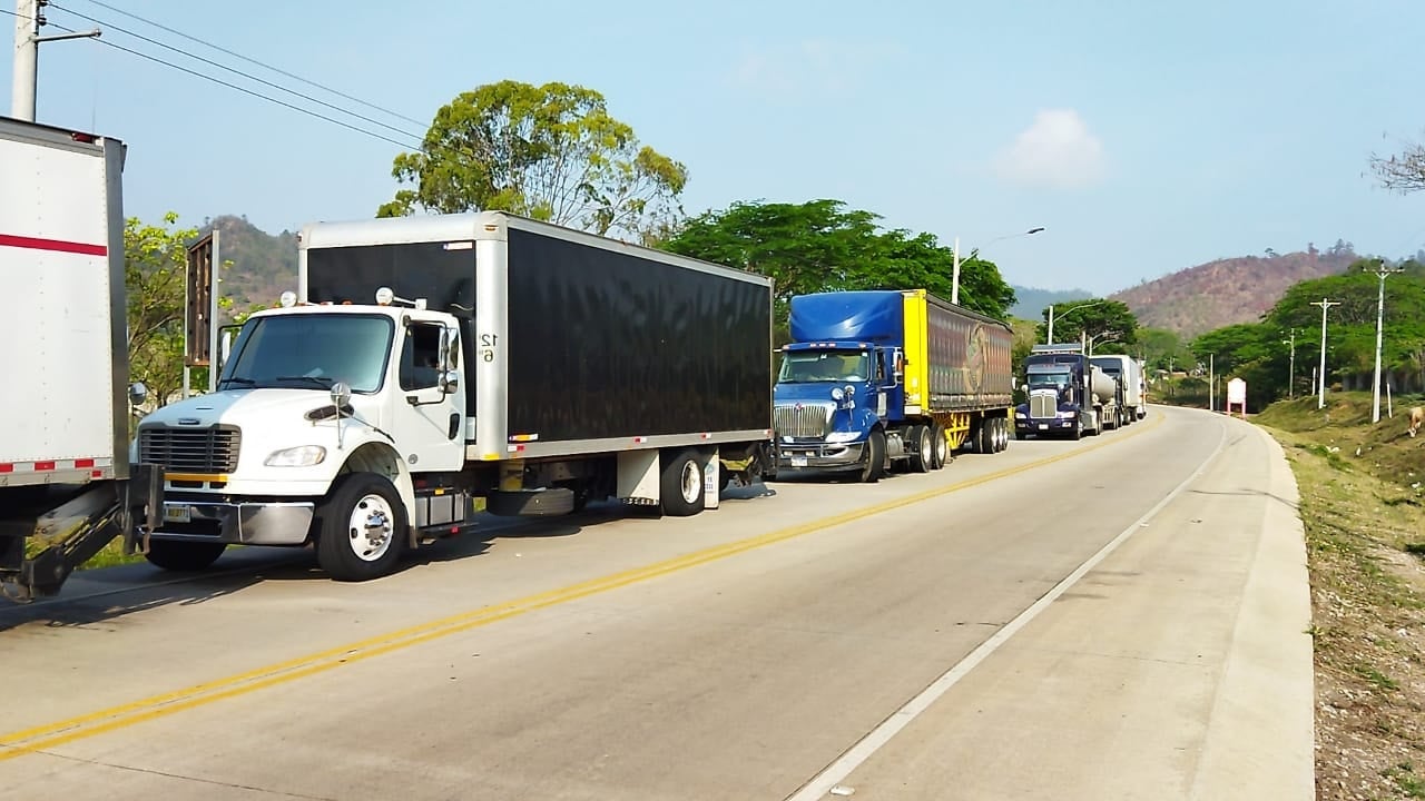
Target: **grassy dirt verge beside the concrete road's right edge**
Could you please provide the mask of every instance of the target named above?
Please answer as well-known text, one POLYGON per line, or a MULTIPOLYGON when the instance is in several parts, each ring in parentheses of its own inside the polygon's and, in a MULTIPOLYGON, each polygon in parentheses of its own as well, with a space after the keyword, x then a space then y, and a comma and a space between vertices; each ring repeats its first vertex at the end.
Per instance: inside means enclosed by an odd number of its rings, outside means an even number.
POLYGON ((1317 798, 1425 800, 1425 433, 1369 393, 1254 422, 1301 493, 1315 643, 1317 798))

